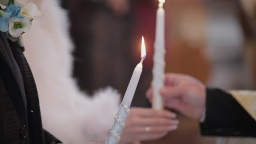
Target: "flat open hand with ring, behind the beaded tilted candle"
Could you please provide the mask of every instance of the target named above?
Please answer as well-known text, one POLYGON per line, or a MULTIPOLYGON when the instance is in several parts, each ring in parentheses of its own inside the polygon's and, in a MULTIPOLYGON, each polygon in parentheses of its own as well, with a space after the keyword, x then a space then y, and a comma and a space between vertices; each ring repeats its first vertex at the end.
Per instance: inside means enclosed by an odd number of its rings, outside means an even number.
POLYGON ((159 139, 177 129, 179 121, 174 118, 176 114, 167 110, 131 108, 121 142, 159 139))

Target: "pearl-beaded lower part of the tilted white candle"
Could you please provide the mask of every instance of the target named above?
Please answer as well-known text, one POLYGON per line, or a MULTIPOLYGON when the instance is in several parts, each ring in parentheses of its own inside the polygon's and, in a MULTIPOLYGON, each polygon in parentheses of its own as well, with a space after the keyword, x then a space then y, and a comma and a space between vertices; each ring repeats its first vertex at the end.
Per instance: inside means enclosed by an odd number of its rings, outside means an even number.
POLYGON ((128 105, 121 104, 117 115, 115 115, 115 122, 109 132, 108 140, 105 144, 118 144, 121 139, 121 133, 125 127, 125 121, 130 113, 130 107, 128 105))

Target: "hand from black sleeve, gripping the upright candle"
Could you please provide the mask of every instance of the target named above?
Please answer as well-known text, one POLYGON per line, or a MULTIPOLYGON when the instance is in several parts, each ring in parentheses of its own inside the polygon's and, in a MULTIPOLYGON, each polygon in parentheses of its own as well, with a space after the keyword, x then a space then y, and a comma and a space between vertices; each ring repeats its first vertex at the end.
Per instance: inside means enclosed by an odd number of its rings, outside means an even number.
MULTIPOLYGON (((206 105, 206 88, 188 75, 166 74, 165 86, 160 90, 166 107, 176 109, 189 117, 200 119, 206 105)), ((153 91, 147 92, 150 101, 153 91)))

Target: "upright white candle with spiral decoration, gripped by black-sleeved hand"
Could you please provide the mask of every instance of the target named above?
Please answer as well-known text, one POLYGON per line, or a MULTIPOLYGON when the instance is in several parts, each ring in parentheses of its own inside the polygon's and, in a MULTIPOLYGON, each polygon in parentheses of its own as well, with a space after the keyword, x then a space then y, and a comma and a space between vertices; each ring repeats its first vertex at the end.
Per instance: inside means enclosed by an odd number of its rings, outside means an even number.
POLYGON ((156 32, 154 44, 153 67, 153 109, 164 109, 162 97, 159 93, 164 86, 165 77, 165 10, 162 8, 165 0, 159 0, 159 8, 156 12, 156 32))

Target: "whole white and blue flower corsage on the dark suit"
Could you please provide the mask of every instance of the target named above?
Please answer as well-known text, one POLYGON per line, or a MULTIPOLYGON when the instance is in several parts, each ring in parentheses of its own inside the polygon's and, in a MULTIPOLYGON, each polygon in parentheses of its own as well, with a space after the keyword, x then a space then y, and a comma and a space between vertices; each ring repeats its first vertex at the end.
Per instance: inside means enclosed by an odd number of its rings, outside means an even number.
POLYGON ((0 31, 11 41, 18 41, 24 51, 21 34, 30 29, 33 19, 41 15, 40 10, 28 0, 0 0, 0 4, 5 6, 0 10, 0 31))

